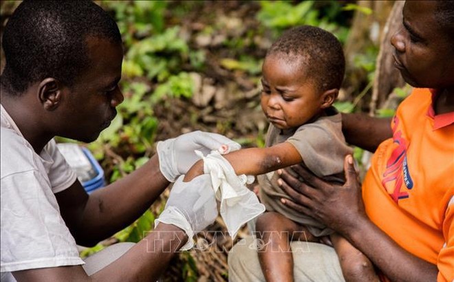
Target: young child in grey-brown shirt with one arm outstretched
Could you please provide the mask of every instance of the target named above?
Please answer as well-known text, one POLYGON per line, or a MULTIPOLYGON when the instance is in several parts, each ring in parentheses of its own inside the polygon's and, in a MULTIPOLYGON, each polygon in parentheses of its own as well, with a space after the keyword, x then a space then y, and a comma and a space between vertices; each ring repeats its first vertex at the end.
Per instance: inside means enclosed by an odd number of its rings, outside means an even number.
MULTIPOLYGON (((344 72, 343 50, 334 35, 307 25, 285 32, 268 50, 262 67, 261 107, 270 121, 266 148, 224 156, 237 175, 259 175, 267 212, 258 217, 256 231, 263 240, 258 254, 267 281, 293 280, 290 241, 327 235, 347 281, 378 280, 370 261, 347 240, 281 202, 290 197, 274 172, 303 162, 325 180, 345 182, 343 162, 352 149, 345 144, 340 113, 332 107, 344 72)), ((202 173, 203 162, 197 162, 184 181, 202 173)))

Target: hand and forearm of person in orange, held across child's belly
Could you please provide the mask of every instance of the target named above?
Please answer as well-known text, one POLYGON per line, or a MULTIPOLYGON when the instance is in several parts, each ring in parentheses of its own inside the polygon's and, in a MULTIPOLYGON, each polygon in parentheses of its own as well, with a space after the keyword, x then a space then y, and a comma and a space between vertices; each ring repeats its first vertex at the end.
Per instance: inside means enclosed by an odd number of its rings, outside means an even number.
POLYGON ((436 281, 436 265, 398 246, 367 217, 352 156, 345 158, 344 168, 347 182, 343 186, 324 182, 301 166, 292 169, 305 183, 283 170, 283 181, 278 183, 292 197, 292 201, 283 202, 343 235, 391 281, 436 281))

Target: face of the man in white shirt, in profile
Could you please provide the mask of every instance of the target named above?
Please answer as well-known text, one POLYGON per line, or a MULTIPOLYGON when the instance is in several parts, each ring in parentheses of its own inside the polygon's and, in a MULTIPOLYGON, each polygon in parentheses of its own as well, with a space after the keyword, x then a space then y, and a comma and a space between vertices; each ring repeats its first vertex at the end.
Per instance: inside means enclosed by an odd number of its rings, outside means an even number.
POLYGON ((63 126, 59 135, 91 142, 109 127, 116 116, 116 107, 123 100, 118 88, 121 78, 122 46, 107 39, 89 37, 87 71, 65 89, 63 126))

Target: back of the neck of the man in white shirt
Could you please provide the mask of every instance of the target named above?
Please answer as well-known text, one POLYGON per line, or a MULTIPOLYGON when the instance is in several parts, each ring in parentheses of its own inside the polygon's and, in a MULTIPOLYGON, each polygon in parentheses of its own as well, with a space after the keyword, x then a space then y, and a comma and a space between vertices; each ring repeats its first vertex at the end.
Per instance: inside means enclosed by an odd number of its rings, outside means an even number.
POLYGON ((1 89, 1 105, 14 120, 25 140, 39 154, 54 136, 52 133, 46 133, 45 127, 40 123, 42 120, 39 114, 32 110, 32 101, 29 101, 27 95, 23 93, 21 96, 12 96, 1 89))

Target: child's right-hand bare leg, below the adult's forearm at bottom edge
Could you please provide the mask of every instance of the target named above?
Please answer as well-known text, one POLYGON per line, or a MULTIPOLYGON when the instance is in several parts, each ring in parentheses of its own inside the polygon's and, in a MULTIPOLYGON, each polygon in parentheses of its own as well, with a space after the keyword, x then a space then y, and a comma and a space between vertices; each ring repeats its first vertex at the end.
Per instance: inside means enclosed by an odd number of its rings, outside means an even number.
POLYGON ((345 281, 380 281, 372 262, 347 239, 335 233, 331 235, 331 241, 339 257, 345 281))

